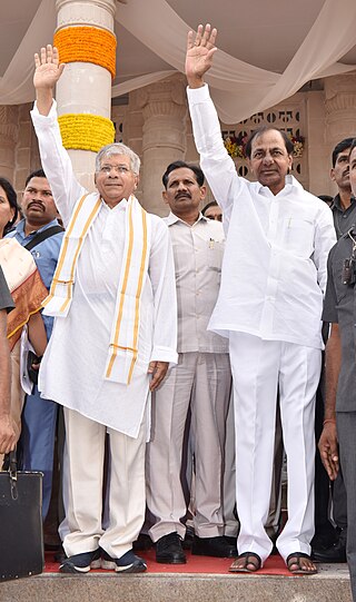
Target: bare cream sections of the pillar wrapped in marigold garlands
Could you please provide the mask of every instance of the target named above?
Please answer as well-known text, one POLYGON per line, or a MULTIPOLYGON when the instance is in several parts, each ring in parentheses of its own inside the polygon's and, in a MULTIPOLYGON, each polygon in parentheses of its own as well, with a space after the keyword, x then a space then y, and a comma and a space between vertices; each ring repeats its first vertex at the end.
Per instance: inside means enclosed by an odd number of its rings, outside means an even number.
MULTIPOLYGON (((95 27, 113 33, 115 0, 56 0, 57 32, 68 27, 95 27)), ((93 62, 68 62, 56 97, 59 115, 90 114, 110 118, 111 73, 93 62)), ((96 152, 69 149, 78 179, 93 189, 96 152)))

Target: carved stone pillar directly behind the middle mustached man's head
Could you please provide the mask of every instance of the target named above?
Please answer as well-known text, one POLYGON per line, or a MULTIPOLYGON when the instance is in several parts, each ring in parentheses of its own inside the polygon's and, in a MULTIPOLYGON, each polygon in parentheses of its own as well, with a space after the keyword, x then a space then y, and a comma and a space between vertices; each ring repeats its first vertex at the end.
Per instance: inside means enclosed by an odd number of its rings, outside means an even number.
POLYGON ((142 110, 142 205, 150 213, 168 214, 161 178, 166 167, 186 152, 187 102, 182 76, 146 86, 130 95, 142 110))

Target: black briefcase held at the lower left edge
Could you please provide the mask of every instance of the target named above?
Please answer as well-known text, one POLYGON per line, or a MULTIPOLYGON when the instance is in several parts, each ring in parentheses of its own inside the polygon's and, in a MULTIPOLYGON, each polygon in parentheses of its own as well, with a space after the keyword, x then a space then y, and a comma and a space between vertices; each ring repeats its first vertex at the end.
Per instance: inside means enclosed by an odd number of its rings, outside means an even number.
POLYGON ((44 566, 40 472, 17 470, 16 452, 0 472, 0 581, 38 575, 44 566))

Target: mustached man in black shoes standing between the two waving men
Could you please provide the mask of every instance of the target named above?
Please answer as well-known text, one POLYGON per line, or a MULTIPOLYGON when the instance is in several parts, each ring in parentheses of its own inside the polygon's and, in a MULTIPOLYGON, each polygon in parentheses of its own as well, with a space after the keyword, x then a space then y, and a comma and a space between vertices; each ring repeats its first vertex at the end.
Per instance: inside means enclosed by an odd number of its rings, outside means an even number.
MULTIPOLYGON (((152 440, 147 446, 149 534, 156 560, 184 563, 187 504, 179 474, 190 407, 195 466, 192 554, 234 556, 224 537, 222 475, 226 417, 231 388, 228 344, 207 332, 221 275, 224 229, 199 211, 205 199, 198 166, 175 161, 162 177, 165 219, 174 247, 178 302, 178 365, 155 393, 152 440)), ((187 437, 188 441, 188 437, 187 437)), ((186 443, 187 443, 186 441, 186 443)), ((184 454, 186 455, 186 454, 184 454)))

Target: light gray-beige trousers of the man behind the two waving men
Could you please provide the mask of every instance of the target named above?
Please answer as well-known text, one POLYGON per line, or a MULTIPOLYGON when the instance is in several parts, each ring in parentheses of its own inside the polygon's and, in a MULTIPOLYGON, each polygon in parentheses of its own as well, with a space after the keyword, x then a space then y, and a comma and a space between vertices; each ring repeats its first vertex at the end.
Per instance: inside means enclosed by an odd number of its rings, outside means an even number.
POLYGON ((195 533, 224 534, 225 430, 231 373, 228 354, 184 353, 152 397, 152 433, 147 445, 147 506, 154 542, 177 531, 184 537, 187 502, 179 478, 190 406, 195 453, 195 533))

